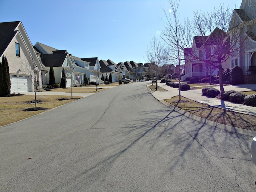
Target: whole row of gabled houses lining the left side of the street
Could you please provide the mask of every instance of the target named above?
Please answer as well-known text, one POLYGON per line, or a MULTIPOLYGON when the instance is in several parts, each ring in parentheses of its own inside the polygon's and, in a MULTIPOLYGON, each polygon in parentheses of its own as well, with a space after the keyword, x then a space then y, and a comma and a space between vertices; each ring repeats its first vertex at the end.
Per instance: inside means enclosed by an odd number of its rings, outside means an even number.
POLYGON ((65 70, 67 87, 84 84, 85 77, 104 84, 102 76, 117 82, 120 78, 142 79, 148 72, 147 65, 134 61, 116 64, 110 59, 78 58, 40 42, 33 46, 21 21, 0 23, 0 56, 8 60, 12 93, 33 91, 34 84, 49 84, 50 67, 56 83, 61 82, 65 70))

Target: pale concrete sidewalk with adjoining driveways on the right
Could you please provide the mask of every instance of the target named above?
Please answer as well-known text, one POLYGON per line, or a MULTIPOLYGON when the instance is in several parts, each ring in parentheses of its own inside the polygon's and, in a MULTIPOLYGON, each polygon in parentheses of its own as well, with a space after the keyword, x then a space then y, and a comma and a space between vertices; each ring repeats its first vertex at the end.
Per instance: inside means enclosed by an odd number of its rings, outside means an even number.
MULTIPOLYGON (((179 95, 179 90, 177 88, 172 88, 170 86, 167 86, 165 83, 163 84, 160 82, 158 82, 158 86, 167 90, 166 92, 159 92, 159 91, 152 92, 152 95, 158 100, 169 99, 169 98, 172 98, 173 96, 179 95)), ((220 90, 219 86, 216 86, 214 88, 220 90)), ((234 90, 238 92, 251 91, 251 90, 256 90, 256 84, 228 85, 228 86, 224 86, 224 90, 225 91, 234 90)), ((214 107, 218 107, 218 108, 222 108, 222 109, 226 109, 234 112, 256 116, 256 107, 231 103, 228 101, 222 101, 216 98, 208 98, 206 96, 202 96, 202 89, 181 91, 180 94, 181 96, 194 100, 196 102, 200 102, 203 104, 207 104, 210 106, 214 106, 214 107)))

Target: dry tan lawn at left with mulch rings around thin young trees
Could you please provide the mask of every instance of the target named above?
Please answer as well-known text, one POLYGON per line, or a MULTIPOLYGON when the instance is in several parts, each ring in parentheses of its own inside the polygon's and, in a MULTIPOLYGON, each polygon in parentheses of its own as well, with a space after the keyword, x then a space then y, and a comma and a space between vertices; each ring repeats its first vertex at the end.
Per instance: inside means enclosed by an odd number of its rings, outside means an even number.
MULTIPOLYGON (((37 107, 43 107, 52 109, 63 104, 77 100, 78 97, 75 96, 74 99, 70 99, 70 96, 57 96, 57 95, 47 95, 47 96, 37 96, 37 100, 41 103, 37 103, 37 107), (59 100, 66 99, 66 100, 59 100)), ((13 97, 0 97, 0 126, 7 125, 19 120, 34 116, 41 112, 39 111, 24 111, 25 109, 35 107, 35 104, 29 104, 29 102, 34 101, 34 95, 20 95, 13 97)))

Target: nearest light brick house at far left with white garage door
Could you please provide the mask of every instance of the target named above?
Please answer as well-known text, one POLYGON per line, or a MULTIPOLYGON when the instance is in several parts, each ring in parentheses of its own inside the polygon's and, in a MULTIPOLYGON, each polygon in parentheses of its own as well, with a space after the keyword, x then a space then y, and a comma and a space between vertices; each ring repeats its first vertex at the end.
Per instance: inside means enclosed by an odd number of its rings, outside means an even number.
POLYGON ((38 59, 22 22, 0 23, 0 56, 8 60, 11 93, 30 92, 42 86, 47 70, 38 59))

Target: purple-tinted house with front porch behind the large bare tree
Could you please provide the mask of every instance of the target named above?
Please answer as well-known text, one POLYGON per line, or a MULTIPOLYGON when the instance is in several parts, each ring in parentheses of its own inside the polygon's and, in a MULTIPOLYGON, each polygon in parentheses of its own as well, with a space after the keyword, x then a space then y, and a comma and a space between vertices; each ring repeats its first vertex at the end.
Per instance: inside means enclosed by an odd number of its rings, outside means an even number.
MULTIPOLYGON (((224 31, 216 28, 209 36, 195 36, 192 48, 184 48, 185 65, 182 67, 182 81, 189 80, 191 77, 205 77, 217 75, 218 69, 207 63, 210 54, 214 53, 215 43, 218 43, 218 36, 225 34, 224 31)), ((230 68, 230 60, 222 62, 222 68, 230 68)))

